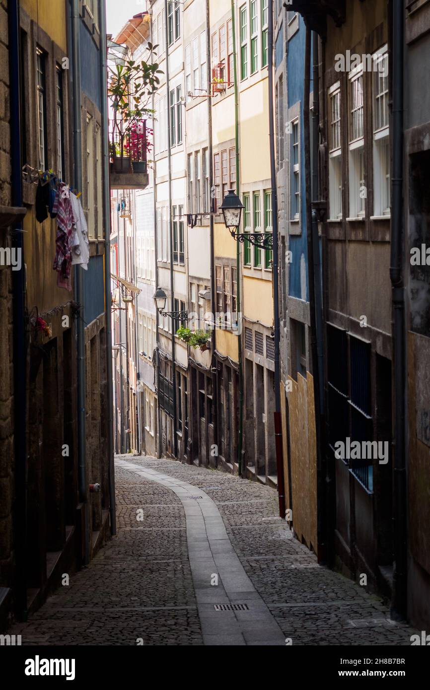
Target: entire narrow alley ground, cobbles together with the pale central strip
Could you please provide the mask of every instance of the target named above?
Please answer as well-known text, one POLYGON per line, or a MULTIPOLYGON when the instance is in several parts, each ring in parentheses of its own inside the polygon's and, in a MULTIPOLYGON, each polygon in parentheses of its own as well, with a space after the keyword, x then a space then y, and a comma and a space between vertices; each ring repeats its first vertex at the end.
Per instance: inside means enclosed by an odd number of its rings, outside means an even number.
POLYGON ((15 625, 23 644, 411 644, 413 629, 389 620, 378 598, 318 566, 292 537, 273 489, 130 455, 117 457, 115 471, 117 537, 15 625), (207 537, 193 522, 202 520, 199 502, 207 537), (213 558, 218 586, 202 575, 213 558), (216 611, 215 600, 242 606, 216 611))

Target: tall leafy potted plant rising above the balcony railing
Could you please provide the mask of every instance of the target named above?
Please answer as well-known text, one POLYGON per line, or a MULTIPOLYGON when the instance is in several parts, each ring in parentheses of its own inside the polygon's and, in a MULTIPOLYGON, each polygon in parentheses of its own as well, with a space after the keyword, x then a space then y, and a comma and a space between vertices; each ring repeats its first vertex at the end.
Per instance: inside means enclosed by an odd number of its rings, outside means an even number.
MULTIPOLYGON (((155 48, 157 46, 148 43, 151 59, 155 55, 155 48)), ((158 66, 156 61, 142 60, 136 63, 134 60, 128 60, 125 65, 110 68, 108 95, 113 112, 113 167, 117 172, 128 172, 131 169, 133 133, 138 135, 139 124, 146 117, 153 117, 153 110, 147 106, 159 85, 157 74, 162 73, 162 70, 159 70, 158 66)), ((143 142, 135 137, 134 143, 138 146, 143 142)), ((140 158, 136 162, 139 161, 140 158)))

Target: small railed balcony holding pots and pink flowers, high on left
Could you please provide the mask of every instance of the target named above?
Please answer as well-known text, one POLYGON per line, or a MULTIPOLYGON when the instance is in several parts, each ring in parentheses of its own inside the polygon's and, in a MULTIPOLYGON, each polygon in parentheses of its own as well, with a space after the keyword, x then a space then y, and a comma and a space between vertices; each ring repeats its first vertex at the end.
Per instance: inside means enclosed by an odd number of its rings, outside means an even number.
POLYGON ((145 189, 148 186, 148 130, 146 120, 125 128, 123 121, 110 122, 110 188, 145 189))

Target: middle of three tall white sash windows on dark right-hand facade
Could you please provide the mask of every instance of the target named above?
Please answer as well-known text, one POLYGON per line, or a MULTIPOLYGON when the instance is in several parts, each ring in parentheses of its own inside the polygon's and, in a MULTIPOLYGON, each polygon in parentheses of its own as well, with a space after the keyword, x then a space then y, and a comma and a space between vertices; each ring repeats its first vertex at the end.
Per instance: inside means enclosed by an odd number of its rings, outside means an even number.
POLYGON ((364 107, 362 68, 349 75, 349 215, 364 217, 364 107))

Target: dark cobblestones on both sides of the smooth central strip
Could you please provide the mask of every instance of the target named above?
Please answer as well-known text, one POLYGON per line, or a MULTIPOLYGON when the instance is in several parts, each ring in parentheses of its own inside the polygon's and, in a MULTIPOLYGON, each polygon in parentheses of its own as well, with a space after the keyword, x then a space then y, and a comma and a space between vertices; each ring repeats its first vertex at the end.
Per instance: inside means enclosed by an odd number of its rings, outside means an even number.
MULTIPOLYGON (((411 644, 415 630, 389 620, 380 599, 319 566, 292 537, 273 489, 172 460, 121 457, 213 499, 248 578, 292 644, 411 644)), ((28 623, 14 626, 23 644, 204 644, 181 501, 133 472, 117 467, 115 477, 117 537, 28 623)))

